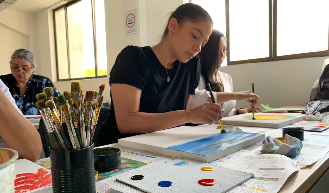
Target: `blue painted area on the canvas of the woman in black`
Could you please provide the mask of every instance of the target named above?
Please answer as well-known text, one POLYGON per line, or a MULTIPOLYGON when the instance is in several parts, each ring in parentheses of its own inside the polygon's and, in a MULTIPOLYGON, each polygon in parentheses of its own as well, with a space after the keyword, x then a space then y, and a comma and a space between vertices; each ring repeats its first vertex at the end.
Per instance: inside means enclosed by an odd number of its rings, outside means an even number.
POLYGON ((215 134, 180 145, 169 146, 167 148, 202 156, 209 156, 226 148, 238 145, 251 139, 255 139, 259 136, 263 136, 263 138, 265 137, 264 134, 260 133, 227 131, 226 133, 215 134))

